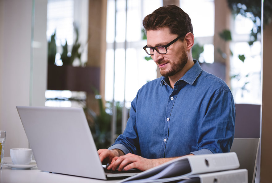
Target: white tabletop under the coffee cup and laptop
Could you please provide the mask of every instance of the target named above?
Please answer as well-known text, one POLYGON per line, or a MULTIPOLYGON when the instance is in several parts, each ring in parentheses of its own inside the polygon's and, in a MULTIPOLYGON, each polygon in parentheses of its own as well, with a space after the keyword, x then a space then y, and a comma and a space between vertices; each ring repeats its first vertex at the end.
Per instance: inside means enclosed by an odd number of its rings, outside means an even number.
MULTIPOLYGON (((3 162, 11 162, 10 157, 4 157, 3 162)), ((84 178, 84 177, 76 177, 70 175, 63 175, 58 173, 49 173, 38 170, 37 166, 31 169, 26 170, 18 170, 12 169, 3 165, 2 170, 0 170, 0 182, 1 183, 9 183, 9 182, 21 182, 21 183, 54 183, 54 182, 97 182, 97 183, 114 183, 118 182, 118 180, 113 181, 104 181, 104 180, 97 180, 91 178, 84 178)))

